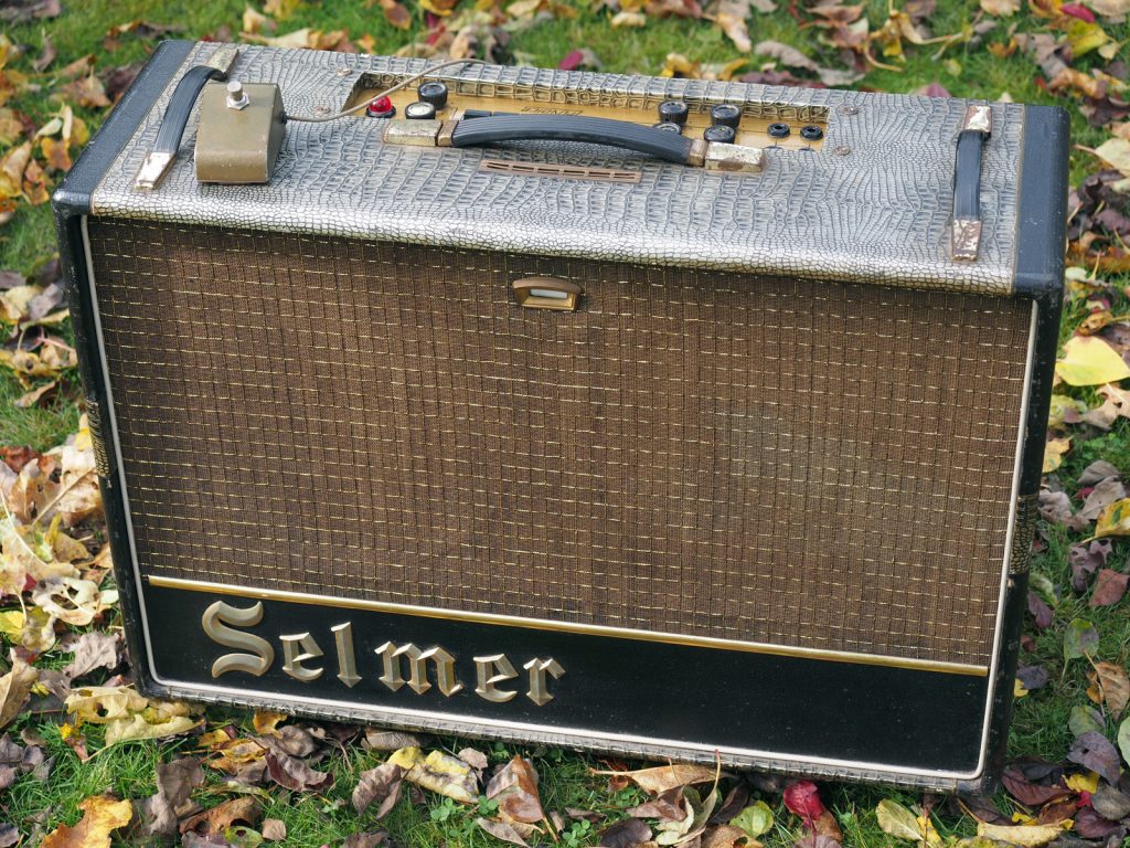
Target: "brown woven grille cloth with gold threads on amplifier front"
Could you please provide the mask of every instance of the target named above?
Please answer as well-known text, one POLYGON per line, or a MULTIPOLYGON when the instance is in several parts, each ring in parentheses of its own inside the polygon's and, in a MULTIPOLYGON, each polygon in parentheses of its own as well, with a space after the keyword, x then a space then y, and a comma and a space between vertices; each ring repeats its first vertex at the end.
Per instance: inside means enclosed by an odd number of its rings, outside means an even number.
POLYGON ((144 573, 988 664, 1029 308, 89 226, 144 573), (515 305, 514 279, 585 289, 515 305))

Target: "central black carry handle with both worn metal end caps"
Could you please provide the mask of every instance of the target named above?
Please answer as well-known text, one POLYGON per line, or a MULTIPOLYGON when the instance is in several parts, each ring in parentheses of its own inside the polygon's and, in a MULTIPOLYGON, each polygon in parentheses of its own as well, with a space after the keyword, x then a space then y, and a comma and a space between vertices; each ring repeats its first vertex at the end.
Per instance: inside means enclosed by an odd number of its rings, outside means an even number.
POLYGON ((584 141, 623 147, 667 162, 709 171, 756 173, 763 167, 757 147, 685 138, 631 121, 586 115, 489 115, 462 121, 389 120, 383 140, 390 145, 476 147, 498 141, 584 141))

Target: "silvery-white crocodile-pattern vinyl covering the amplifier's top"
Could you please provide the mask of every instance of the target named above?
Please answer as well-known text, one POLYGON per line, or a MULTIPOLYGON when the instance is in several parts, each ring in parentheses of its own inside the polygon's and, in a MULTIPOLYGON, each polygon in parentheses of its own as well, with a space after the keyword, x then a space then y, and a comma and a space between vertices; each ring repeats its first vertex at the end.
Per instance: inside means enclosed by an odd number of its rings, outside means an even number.
MULTIPOLYGON (((197 45, 181 72, 216 47, 197 45)), ((290 114, 342 107, 363 73, 426 67, 423 60, 323 51, 242 51, 234 76, 278 83, 290 114)), ((189 224, 971 293, 1012 291, 1023 106, 991 104, 981 253, 975 262, 960 262, 949 256, 949 219, 955 139, 966 101, 496 66, 454 70, 440 76, 522 90, 584 89, 618 101, 825 107, 827 138, 819 152, 771 149, 764 172, 733 175, 559 142, 386 146, 382 121, 347 118, 289 122, 269 185, 201 185, 192 166, 193 115, 181 157, 162 185, 136 191, 133 178, 174 79, 96 189, 93 208, 98 215, 189 224), (629 184, 498 173, 479 168, 485 157, 631 167, 642 179, 629 184)))

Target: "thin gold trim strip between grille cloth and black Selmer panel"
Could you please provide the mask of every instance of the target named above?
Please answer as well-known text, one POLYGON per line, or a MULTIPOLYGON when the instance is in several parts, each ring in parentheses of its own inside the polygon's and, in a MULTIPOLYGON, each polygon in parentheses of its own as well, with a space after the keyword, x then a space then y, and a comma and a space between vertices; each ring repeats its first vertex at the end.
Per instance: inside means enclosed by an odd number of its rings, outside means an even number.
POLYGON ((183 589, 186 591, 212 592, 215 595, 235 595, 244 598, 262 600, 280 600, 287 604, 312 604, 314 606, 331 606, 347 609, 371 609, 380 613, 398 615, 415 615, 421 618, 447 618, 468 621, 478 624, 497 624, 504 628, 524 628, 528 630, 549 630, 567 633, 584 633, 602 635, 610 639, 632 639, 642 642, 666 642, 684 644, 693 648, 714 648, 718 650, 745 651, 748 654, 767 654, 777 657, 799 657, 801 659, 820 659, 829 663, 853 663, 857 665, 886 666, 889 668, 909 668, 916 672, 938 672, 941 674, 964 674, 971 677, 986 677, 989 669, 984 666, 966 665, 964 663, 941 663, 930 659, 910 659, 906 657, 884 657, 854 651, 828 651, 816 648, 794 648, 784 644, 764 644, 762 642, 739 642, 734 639, 715 639, 713 637, 675 635, 658 633, 651 630, 629 630, 627 628, 609 628, 602 624, 575 624, 545 621, 542 618, 525 618, 518 615, 496 615, 493 613, 468 613, 459 609, 433 609, 410 604, 389 604, 380 600, 360 600, 357 598, 331 598, 323 595, 307 595, 298 591, 281 591, 279 589, 257 589, 250 587, 212 583, 205 580, 182 580, 173 577, 149 576, 150 586, 162 589, 183 589))

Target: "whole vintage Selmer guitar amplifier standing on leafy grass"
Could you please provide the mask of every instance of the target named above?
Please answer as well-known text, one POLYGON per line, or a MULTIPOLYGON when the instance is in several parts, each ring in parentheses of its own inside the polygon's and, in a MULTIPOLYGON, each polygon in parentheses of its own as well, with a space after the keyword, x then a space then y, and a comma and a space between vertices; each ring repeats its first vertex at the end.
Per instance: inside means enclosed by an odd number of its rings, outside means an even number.
POLYGON ((54 200, 139 685, 983 787, 1067 135, 163 44, 54 200))

